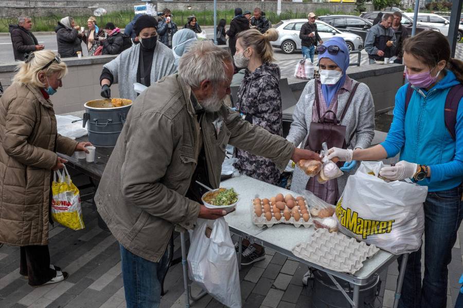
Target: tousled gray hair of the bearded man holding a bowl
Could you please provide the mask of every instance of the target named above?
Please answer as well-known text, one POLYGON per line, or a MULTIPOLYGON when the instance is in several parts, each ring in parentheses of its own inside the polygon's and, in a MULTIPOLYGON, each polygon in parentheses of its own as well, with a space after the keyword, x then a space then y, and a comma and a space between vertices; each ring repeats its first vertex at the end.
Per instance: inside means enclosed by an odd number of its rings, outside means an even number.
POLYGON ((212 44, 199 41, 190 45, 179 62, 179 76, 192 88, 199 88, 204 80, 225 82, 226 62, 233 63, 230 52, 212 44))

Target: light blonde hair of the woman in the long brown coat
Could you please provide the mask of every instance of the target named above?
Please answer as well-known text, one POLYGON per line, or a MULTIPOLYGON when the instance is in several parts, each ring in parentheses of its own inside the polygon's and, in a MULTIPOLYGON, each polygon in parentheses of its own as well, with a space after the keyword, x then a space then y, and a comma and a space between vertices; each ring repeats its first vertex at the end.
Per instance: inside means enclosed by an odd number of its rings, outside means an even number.
MULTIPOLYGON (((32 55, 30 55, 32 56, 32 55)), ((31 84, 37 87, 44 87, 45 84, 39 80, 39 72, 43 71, 46 76, 59 72, 59 79, 67 73, 67 66, 64 62, 53 61, 50 66, 42 70, 50 61, 55 59, 56 54, 51 50, 34 51, 33 58, 29 62, 20 61, 17 64, 17 73, 13 77, 13 83, 31 84)))

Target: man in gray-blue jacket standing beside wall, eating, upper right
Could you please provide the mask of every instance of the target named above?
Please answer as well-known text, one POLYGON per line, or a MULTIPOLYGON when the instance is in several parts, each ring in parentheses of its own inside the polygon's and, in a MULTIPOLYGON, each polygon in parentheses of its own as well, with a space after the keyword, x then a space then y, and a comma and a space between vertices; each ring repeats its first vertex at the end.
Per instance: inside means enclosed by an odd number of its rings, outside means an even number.
POLYGON ((370 28, 365 38, 365 51, 368 53, 369 64, 384 61, 394 55, 396 34, 391 28, 394 20, 393 14, 386 13, 380 23, 370 28))

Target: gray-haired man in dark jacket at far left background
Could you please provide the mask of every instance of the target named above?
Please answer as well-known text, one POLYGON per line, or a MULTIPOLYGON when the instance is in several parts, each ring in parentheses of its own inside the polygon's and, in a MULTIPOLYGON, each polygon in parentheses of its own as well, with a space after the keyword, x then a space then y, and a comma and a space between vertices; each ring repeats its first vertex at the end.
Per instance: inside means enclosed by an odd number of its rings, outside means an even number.
POLYGON ((29 16, 20 16, 17 18, 17 22, 17 25, 10 25, 9 27, 14 60, 24 61, 25 53, 42 50, 45 47, 39 45, 37 38, 30 32, 32 20, 29 16))

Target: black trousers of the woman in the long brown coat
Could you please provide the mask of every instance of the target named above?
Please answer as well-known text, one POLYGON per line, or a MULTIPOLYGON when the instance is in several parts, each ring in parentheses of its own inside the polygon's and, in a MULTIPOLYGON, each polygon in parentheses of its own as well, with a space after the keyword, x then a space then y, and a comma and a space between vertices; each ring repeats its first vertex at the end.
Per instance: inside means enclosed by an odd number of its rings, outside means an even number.
POLYGON ((20 274, 28 277, 30 285, 44 284, 56 276, 50 268, 48 245, 22 246, 20 253, 20 274))

